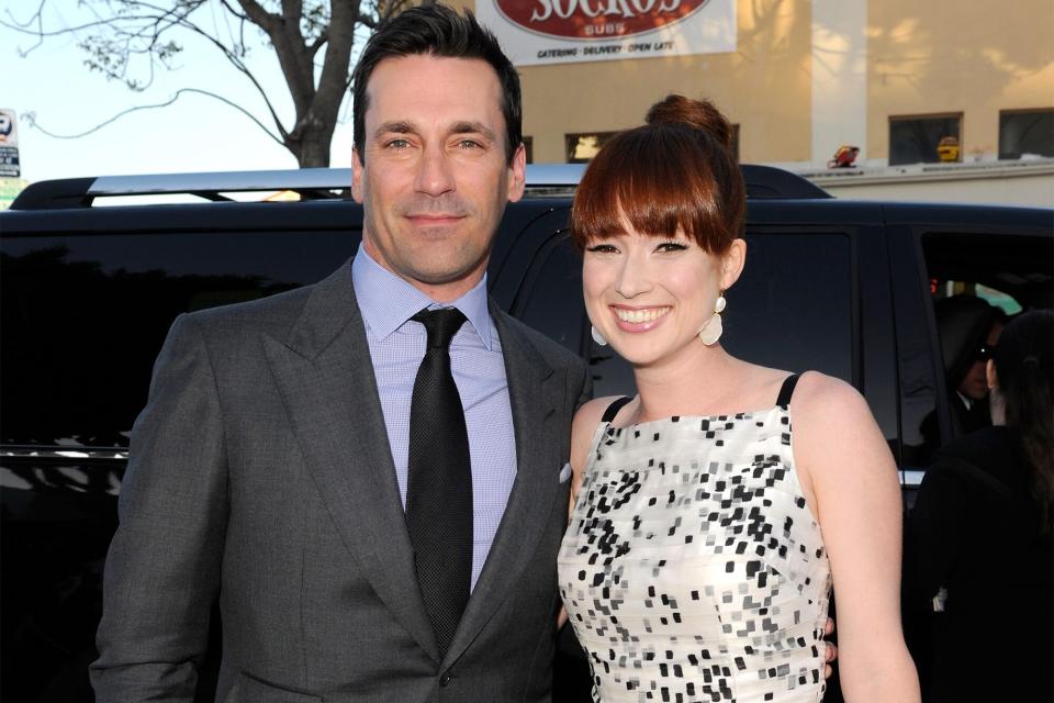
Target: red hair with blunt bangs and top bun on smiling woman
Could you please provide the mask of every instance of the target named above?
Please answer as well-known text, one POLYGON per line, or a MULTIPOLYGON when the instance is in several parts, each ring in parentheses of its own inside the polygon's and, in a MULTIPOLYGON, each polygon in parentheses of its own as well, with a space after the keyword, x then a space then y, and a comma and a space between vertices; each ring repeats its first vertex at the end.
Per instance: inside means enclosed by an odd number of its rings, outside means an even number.
POLYGON ((732 153, 732 127, 706 100, 669 96, 647 123, 616 135, 590 163, 574 196, 571 237, 625 230, 652 236, 683 232, 713 254, 742 236, 747 190, 732 153))

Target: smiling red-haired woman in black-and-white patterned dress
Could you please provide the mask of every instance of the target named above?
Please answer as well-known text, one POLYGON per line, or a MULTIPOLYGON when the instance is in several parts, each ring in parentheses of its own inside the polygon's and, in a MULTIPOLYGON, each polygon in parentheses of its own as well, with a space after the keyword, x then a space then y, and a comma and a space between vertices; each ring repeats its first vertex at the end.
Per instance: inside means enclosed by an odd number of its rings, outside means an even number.
POLYGON ((718 342, 745 258, 731 134, 710 103, 671 96, 575 196, 594 336, 638 390, 587 403, 572 429, 560 589, 594 699, 819 701, 833 581, 845 699, 918 701, 896 467, 867 404, 718 342))

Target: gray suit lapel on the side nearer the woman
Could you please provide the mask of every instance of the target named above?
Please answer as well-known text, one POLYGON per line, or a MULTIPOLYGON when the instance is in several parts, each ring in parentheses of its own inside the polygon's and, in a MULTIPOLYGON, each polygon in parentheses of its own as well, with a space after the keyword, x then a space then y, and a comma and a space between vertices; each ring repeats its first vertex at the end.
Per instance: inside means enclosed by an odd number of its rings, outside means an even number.
POLYGON ((570 426, 554 426, 560 422, 557 409, 564 402, 562 379, 553 375, 530 341, 508 324, 493 300, 491 316, 505 357, 516 435, 516 480, 446 661, 453 661, 464 651, 523 578, 560 491, 562 459, 550 449, 554 446, 552 437, 554 433, 571 432, 570 426))

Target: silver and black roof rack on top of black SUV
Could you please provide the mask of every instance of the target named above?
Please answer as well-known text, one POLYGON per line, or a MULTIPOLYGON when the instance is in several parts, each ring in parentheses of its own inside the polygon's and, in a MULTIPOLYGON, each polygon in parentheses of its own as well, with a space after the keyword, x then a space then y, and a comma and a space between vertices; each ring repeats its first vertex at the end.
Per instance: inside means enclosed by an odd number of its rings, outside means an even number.
MULTIPOLYGON (((585 164, 529 164, 527 188, 536 196, 570 194, 584 171, 585 164)), ((744 165, 742 171, 750 199, 831 197, 801 176, 780 168, 744 165)), ((188 194, 220 202, 234 200, 229 193, 260 191, 291 191, 301 200, 347 199, 350 182, 350 168, 64 178, 31 183, 11 209, 89 208, 96 198, 122 196, 188 194)))

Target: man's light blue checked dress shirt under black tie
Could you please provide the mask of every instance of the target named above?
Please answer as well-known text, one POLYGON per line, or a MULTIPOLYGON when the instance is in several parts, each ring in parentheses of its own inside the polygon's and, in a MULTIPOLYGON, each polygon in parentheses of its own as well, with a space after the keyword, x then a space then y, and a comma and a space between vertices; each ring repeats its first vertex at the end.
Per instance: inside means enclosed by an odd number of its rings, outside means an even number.
POLYGON ((351 261, 351 282, 366 323, 366 338, 404 509, 410 405, 428 339, 425 326, 410 317, 425 308, 452 306, 468 320, 450 341, 450 370, 461 394, 469 433, 474 542, 472 587, 475 588, 516 480, 513 411, 502 342, 486 306, 486 276, 461 298, 440 305, 383 268, 360 246, 351 261))

